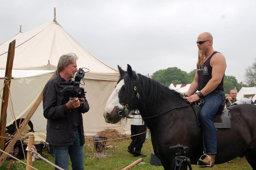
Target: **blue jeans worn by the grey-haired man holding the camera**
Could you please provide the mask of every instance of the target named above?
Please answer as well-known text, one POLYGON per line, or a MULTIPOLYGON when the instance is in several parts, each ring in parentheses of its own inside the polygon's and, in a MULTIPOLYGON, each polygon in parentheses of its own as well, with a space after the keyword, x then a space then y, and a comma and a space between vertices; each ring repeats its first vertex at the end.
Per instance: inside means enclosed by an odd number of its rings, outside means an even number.
MULTIPOLYGON (((81 145, 81 134, 79 130, 74 131, 73 145, 52 146, 55 164, 69 170, 69 156, 73 170, 84 170, 83 145, 81 145)), ((58 170, 55 168, 55 170, 58 170)))

